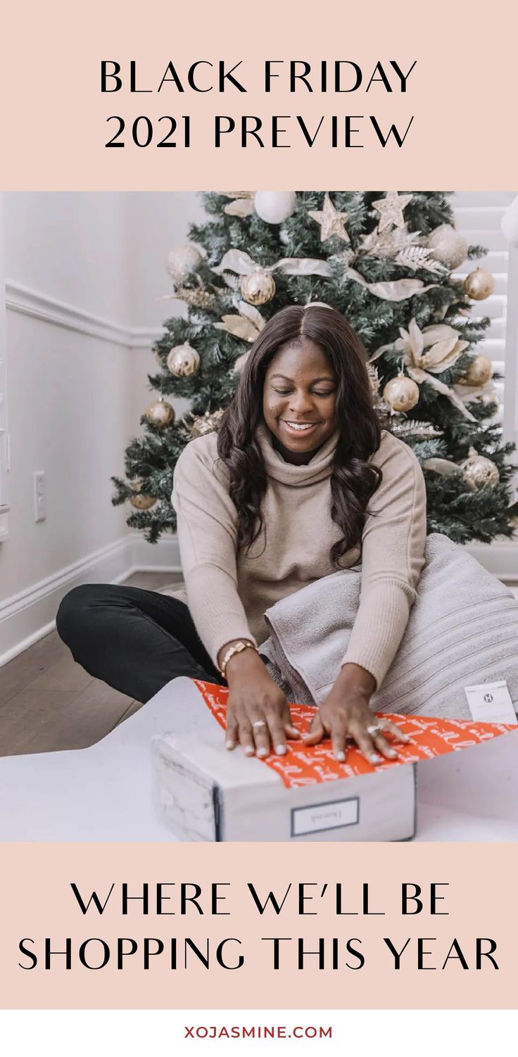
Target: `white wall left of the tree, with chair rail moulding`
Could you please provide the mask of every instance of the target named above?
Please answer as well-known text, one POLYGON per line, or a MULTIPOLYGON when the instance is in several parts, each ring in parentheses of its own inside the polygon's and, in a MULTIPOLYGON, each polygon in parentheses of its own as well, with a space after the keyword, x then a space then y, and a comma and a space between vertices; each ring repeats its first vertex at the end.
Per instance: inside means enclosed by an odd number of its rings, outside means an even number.
POLYGON ((11 470, 0 656, 37 636, 76 579, 112 578, 125 561, 110 475, 134 425, 128 208, 119 194, 4 196, 11 470), (35 470, 45 475, 39 523, 35 470))

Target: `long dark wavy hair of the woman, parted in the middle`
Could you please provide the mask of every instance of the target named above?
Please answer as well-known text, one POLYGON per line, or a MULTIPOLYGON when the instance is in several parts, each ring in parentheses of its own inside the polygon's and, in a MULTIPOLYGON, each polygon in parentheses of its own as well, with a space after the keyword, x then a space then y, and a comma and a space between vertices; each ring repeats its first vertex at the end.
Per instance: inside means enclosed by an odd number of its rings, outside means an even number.
POLYGON ((338 443, 331 476, 331 518, 343 533, 331 549, 334 568, 355 546, 365 524, 367 503, 382 471, 368 462, 377 451, 382 430, 373 408, 366 352, 357 334, 334 309, 290 305, 270 319, 252 346, 238 390, 218 431, 218 455, 230 475, 229 495, 238 513, 238 549, 249 549, 262 528, 261 502, 266 471, 256 429, 263 421, 266 369, 286 344, 310 338, 323 350, 337 382, 338 443))

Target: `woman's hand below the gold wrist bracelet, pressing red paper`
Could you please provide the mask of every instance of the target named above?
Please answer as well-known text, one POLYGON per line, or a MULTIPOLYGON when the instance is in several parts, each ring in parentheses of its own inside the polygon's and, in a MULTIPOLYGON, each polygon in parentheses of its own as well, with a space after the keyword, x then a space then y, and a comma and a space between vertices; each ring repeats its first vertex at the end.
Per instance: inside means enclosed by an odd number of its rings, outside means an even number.
POLYGON ((226 666, 226 747, 241 743, 246 756, 283 756, 286 738, 300 738, 282 690, 269 675, 256 650, 230 657, 226 666))

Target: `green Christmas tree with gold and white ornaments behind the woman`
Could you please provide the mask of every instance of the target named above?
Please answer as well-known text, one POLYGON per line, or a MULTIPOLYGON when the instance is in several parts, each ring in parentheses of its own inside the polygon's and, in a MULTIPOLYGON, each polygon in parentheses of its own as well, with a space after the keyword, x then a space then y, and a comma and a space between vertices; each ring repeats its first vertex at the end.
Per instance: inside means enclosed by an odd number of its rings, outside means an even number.
MULTIPOLYGON (((492 363, 477 346, 489 324, 473 301, 494 290, 483 257, 455 229, 440 191, 227 191, 203 194, 207 220, 171 252, 172 298, 185 317, 165 323, 149 375, 160 398, 126 450, 113 503, 151 542, 175 527, 172 475, 184 446, 217 429, 252 342, 286 304, 337 309, 367 350, 382 426, 410 445, 428 496, 428 528, 457 542, 511 536, 515 470, 495 421, 492 363), (168 401, 188 397, 180 421, 168 401)), ((483 348, 483 347, 482 347, 483 348)))

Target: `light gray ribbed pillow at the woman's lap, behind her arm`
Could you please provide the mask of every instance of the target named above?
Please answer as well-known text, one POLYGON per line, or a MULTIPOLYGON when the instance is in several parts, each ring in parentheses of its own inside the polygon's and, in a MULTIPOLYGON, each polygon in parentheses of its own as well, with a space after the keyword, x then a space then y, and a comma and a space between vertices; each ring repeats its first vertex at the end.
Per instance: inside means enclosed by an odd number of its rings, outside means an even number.
MULTIPOLYGON (((418 597, 375 711, 470 719, 464 687, 505 680, 518 707, 518 601, 446 536, 428 536, 418 597)), ((272 606, 260 647, 289 700, 319 705, 336 680, 359 602, 360 567, 272 606)))

